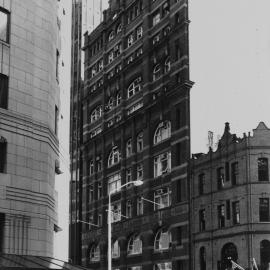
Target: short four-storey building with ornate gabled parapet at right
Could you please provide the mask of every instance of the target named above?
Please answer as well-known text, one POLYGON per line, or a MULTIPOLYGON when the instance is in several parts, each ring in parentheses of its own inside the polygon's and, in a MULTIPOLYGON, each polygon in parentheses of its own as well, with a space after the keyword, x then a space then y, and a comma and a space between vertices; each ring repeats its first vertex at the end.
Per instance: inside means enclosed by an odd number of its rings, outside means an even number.
POLYGON ((193 155, 191 224, 193 269, 245 269, 270 263, 270 129, 238 138, 229 124, 214 152, 193 155), (254 265, 254 264, 253 264, 254 265))

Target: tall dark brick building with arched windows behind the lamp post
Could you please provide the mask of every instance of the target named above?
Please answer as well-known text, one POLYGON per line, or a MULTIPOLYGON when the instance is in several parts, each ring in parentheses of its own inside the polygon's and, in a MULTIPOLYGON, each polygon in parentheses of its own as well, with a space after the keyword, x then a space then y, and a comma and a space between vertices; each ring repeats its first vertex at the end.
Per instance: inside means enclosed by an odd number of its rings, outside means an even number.
POLYGON ((188 25, 187 0, 111 0, 85 34, 71 216, 92 225, 70 241, 84 266, 107 268, 111 193, 114 269, 190 269, 188 25))

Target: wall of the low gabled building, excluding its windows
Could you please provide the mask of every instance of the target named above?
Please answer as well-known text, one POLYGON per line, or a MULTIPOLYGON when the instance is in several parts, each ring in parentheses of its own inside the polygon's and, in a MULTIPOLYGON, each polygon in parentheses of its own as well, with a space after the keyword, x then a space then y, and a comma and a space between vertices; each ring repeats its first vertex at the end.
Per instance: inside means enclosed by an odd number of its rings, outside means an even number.
POLYGON ((233 243, 238 252, 237 262, 251 267, 251 259, 261 264, 260 244, 270 241, 270 222, 259 220, 259 199, 270 198, 270 182, 258 181, 258 158, 268 158, 270 175, 270 129, 263 123, 254 129, 253 136, 235 138, 229 131, 224 132, 221 144, 215 152, 201 155, 193 162, 191 179, 191 209, 193 238, 193 269, 200 269, 200 248, 206 249, 206 269, 217 269, 221 251, 225 244, 233 243), (238 162, 236 185, 226 181, 225 163, 238 162), (225 179, 221 190, 217 189, 217 169, 224 167, 225 179), (205 174, 205 189, 199 194, 198 178, 205 174), (230 218, 227 218, 226 201, 230 201, 230 218), (232 202, 239 201, 240 222, 233 224, 232 202), (225 206, 225 226, 218 226, 218 205, 225 206), (199 227, 199 211, 205 209, 206 229, 199 227))

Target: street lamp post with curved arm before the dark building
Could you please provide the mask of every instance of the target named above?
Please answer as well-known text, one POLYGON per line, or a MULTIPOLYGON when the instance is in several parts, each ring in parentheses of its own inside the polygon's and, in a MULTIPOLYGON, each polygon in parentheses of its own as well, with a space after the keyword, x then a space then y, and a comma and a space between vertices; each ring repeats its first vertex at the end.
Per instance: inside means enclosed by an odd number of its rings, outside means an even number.
MULTIPOLYGON (((143 184, 143 181, 141 180, 136 180, 136 181, 131 181, 128 183, 125 183, 124 185, 120 186, 117 188, 115 191, 118 191, 122 189, 123 187, 127 185, 134 185, 134 186, 140 186, 143 184)), ((112 206, 111 206, 111 194, 112 191, 109 191, 109 202, 108 202, 108 270, 112 270, 112 220, 111 220, 111 212, 112 212, 112 206)))

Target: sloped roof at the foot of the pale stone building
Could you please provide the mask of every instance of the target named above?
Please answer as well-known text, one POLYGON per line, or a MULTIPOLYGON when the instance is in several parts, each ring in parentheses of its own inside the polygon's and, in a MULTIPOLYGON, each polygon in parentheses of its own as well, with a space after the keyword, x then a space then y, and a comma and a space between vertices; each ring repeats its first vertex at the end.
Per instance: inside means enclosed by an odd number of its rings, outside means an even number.
POLYGON ((75 266, 59 259, 15 255, 15 254, 0 254, 0 269, 1 270, 86 270, 86 268, 75 266))

